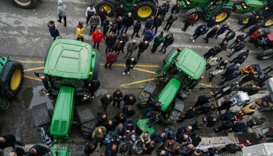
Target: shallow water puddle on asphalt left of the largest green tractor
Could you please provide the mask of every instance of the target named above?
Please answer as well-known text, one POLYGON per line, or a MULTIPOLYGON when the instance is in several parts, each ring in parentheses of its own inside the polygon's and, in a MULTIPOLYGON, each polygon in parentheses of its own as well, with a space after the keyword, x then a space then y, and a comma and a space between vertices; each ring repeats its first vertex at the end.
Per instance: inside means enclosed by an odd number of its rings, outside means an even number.
POLYGON ((25 108, 32 109, 32 106, 46 102, 47 108, 53 110, 51 100, 45 93, 42 93, 44 86, 37 86, 37 88, 27 88, 22 92, 25 108))

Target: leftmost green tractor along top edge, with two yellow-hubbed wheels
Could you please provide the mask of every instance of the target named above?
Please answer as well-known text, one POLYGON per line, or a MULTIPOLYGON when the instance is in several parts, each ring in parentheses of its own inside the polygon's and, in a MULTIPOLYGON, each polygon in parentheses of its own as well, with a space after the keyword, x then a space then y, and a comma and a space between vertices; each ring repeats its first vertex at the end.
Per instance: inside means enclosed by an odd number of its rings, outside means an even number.
POLYGON ((96 0, 94 7, 96 10, 104 7, 108 12, 108 16, 112 16, 120 4, 124 4, 125 14, 128 14, 133 3, 137 4, 137 14, 134 16, 134 19, 146 20, 157 13, 158 0, 96 0))

